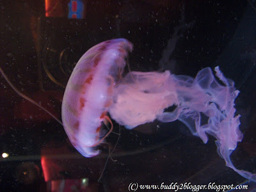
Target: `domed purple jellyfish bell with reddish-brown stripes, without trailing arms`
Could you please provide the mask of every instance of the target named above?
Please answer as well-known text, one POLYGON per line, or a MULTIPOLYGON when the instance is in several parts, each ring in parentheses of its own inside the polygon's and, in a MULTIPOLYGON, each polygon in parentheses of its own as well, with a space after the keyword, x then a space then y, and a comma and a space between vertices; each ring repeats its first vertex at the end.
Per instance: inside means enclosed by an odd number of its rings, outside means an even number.
POLYGON ((99 154, 95 147, 100 138, 103 120, 111 106, 116 79, 125 67, 125 56, 132 44, 114 39, 95 45, 78 61, 63 96, 61 116, 72 145, 84 156, 99 154))

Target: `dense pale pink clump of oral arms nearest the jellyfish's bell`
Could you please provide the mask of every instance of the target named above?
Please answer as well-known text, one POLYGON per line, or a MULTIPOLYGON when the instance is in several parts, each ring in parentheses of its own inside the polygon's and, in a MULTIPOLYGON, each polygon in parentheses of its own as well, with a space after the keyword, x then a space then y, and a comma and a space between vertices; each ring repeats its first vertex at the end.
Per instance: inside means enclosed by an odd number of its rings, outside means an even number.
MULTIPOLYGON (((114 90, 109 113, 127 129, 164 118, 164 108, 179 104, 174 85, 169 71, 129 72, 114 90)), ((178 118, 175 114, 172 121, 178 118)))

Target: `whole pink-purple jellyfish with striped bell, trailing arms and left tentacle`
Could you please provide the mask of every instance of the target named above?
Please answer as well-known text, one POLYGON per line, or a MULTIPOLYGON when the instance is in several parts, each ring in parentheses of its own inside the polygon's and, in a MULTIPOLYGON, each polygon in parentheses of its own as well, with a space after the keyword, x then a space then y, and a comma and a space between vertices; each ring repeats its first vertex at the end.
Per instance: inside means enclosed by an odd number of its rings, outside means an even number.
MULTIPOLYGON (((235 116, 235 99, 239 94, 234 81, 227 79, 219 67, 203 68, 195 79, 165 72, 129 72, 122 81, 125 57, 132 44, 124 38, 108 40, 89 49, 74 68, 63 97, 63 127, 72 145, 84 156, 99 154, 97 145, 105 136, 100 135, 104 120, 111 120, 127 129, 159 120, 184 123, 191 133, 207 143, 208 136, 216 138, 217 151, 226 165, 246 179, 256 182, 256 174, 237 170, 230 155, 243 140, 239 117, 235 116), (164 109, 173 106, 173 111, 164 109), (206 123, 205 123, 206 122, 206 123)), ((52 115, 47 109, 17 90, 24 99, 52 115)), ((58 120, 60 122, 60 120, 58 120)), ((62 123, 60 122, 62 125, 62 123)), ((111 123, 113 129, 113 124, 111 123)))

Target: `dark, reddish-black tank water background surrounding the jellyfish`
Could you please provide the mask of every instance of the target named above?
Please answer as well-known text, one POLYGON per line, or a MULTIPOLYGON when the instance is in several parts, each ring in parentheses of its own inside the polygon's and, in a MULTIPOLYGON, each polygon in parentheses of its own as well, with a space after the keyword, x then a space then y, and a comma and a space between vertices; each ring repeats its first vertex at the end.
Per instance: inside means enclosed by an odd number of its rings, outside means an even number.
MULTIPOLYGON (((66 18, 65 1, 59 4, 61 17, 47 18, 44 1, 6 1, 1 5, 0 65, 18 90, 59 118, 65 84, 76 61, 104 40, 122 37, 134 44, 129 56, 131 70, 171 70, 195 77, 198 70, 219 65, 241 91, 236 109, 241 114, 244 139, 233 152, 232 161, 237 168, 255 173, 253 3, 88 0, 85 19, 76 20, 66 18), (60 62, 64 49, 67 54, 60 62), (164 55, 164 50, 169 53, 164 55)), ((20 98, 3 77, 0 80, 0 153, 10 154, 0 159, 1 191, 47 191, 47 179, 49 183, 88 178, 88 191, 127 191, 131 182, 239 184, 246 180, 225 166, 214 138, 205 145, 180 122, 155 121, 132 131, 120 127, 122 134, 113 153, 117 161, 109 160, 102 180, 97 182, 108 148, 100 147, 102 154, 97 157, 81 156, 58 122, 20 98)), ((118 129, 115 124, 115 131, 118 129)), ((111 134, 107 141, 115 145, 117 138, 111 134)))

